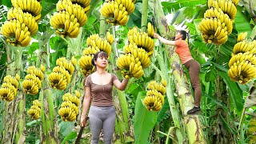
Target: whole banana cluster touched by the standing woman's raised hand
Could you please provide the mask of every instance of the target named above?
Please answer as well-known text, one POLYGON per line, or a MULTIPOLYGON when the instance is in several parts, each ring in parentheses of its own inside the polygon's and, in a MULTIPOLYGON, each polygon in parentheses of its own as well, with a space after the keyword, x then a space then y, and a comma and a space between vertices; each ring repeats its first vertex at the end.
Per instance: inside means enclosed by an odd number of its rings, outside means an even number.
POLYGON ((141 78, 144 68, 150 66, 150 56, 154 52, 154 27, 148 22, 148 33, 143 33, 137 27, 129 30, 129 45, 124 46, 117 66, 122 70, 125 78, 141 78))

